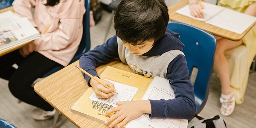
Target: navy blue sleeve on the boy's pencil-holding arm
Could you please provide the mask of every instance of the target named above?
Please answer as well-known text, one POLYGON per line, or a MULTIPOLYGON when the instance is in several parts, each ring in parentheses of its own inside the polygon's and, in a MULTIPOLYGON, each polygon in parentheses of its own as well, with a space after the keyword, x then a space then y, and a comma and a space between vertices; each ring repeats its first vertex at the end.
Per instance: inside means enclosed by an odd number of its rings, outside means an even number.
MULTIPOLYGON (((99 77, 96 72, 96 67, 106 64, 114 58, 119 58, 116 35, 109 38, 104 44, 96 46, 93 50, 84 53, 79 59, 79 65, 92 76, 99 77)), ((87 81, 88 86, 90 86, 89 81, 91 78, 84 73, 82 74, 87 81)))

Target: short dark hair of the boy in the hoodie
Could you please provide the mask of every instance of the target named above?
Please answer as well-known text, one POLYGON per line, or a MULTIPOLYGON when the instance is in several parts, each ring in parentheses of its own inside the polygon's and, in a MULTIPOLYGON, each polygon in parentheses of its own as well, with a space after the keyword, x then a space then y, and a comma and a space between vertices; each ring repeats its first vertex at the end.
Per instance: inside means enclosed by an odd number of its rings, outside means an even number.
POLYGON ((114 17, 116 35, 132 45, 154 39, 156 42, 169 21, 164 0, 122 0, 114 17))

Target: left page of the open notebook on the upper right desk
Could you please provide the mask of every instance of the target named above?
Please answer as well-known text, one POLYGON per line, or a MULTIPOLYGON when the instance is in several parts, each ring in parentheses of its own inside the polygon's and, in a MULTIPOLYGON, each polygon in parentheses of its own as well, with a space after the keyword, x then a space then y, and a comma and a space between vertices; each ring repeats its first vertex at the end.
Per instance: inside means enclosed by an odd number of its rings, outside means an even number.
POLYGON ((202 18, 197 18, 197 17, 193 17, 190 14, 189 11, 189 5, 184 6, 183 8, 179 9, 176 11, 176 13, 181 14, 181 15, 185 15, 187 17, 196 19, 196 20, 200 20, 200 21, 207 21, 209 19, 211 19, 212 17, 214 17, 215 15, 217 15, 219 12, 221 12, 222 10, 224 10, 224 7, 221 6, 216 6, 214 4, 210 4, 210 3, 206 3, 206 2, 202 2, 202 5, 204 5, 204 19, 202 18))

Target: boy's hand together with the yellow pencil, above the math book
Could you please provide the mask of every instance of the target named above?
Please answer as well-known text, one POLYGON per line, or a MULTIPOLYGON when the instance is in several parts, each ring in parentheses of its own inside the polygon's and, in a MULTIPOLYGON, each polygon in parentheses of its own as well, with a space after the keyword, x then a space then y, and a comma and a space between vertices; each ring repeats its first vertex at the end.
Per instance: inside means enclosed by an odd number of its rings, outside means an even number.
POLYGON ((100 98, 108 98, 116 93, 116 89, 111 82, 99 79, 96 76, 92 76, 90 73, 86 72, 79 66, 76 67, 86 75, 90 76, 90 78, 92 78, 90 79, 89 83, 93 87, 93 90, 96 93, 96 95, 100 98))

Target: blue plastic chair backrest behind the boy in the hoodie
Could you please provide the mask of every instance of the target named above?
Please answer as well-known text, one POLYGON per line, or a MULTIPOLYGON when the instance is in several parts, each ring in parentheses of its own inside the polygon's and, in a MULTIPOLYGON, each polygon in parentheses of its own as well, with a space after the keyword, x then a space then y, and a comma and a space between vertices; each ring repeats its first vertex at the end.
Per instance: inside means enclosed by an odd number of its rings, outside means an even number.
POLYGON ((209 94, 209 80, 212 74, 216 38, 195 26, 185 23, 170 22, 168 29, 180 34, 180 41, 185 45, 185 54, 189 76, 194 67, 198 73, 194 83, 196 115, 204 108, 209 94))

